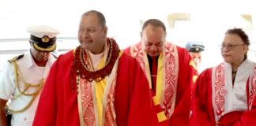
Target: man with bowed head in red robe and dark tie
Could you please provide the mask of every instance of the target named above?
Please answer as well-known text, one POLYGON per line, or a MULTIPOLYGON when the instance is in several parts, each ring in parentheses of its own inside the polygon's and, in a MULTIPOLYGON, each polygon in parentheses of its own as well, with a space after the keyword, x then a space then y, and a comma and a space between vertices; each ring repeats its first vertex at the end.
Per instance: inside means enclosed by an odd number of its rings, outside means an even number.
POLYGON ((165 42, 165 38, 164 23, 147 20, 141 42, 124 52, 141 65, 169 125, 189 125, 191 91, 198 74, 186 49, 165 42))

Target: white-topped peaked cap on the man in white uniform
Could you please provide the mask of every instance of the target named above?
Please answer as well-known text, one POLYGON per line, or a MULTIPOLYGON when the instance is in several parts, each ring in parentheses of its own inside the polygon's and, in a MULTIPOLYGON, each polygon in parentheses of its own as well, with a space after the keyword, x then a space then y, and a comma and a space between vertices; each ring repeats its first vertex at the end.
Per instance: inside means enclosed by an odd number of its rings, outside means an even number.
POLYGON ((61 32, 57 28, 47 25, 36 25, 27 29, 30 41, 36 50, 52 52, 56 49, 57 35, 61 32))

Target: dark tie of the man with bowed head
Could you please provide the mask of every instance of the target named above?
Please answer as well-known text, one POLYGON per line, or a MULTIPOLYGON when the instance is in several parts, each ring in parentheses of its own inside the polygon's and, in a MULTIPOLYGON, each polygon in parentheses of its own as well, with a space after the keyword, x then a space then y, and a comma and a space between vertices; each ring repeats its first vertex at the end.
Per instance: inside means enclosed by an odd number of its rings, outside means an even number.
POLYGON ((157 58, 156 57, 151 57, 152 58, 152 65, 151 65, 151 79, 152 79, 152 89, 156 94, 156 76, 157 76, 157 58))

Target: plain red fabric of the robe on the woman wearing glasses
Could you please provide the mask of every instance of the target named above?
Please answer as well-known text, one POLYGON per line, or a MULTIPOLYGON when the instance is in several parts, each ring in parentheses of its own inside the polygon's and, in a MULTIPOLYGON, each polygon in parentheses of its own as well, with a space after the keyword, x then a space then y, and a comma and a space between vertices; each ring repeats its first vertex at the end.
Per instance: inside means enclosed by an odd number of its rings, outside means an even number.
MULTIPOLYGON (((193 108, 194 114, 190 119, 191 126, 214 126, 216 125, 216 120, 213 111, 213 97, 212 97, 212 71, 211 69, 205 69, 201 72, 196 81, 197 87, 195 87, 195 94, 193 102, 195 106, 193 108)), ((249 83, 249 78, 247 80, 247 87, 249 83)), ((248 92, 247 88, 247 92, 248 92)), ((256 95, 255 95, 256 96, 256 95)), ((255 97, 254 96, 254 97, 255 97)), ((247 93, 247 101, 249 95, 247 93)), ((252 102, 252 108, 246 112, 234 111, 224 114, 220 117, 219 126, 256 126, 256 98, 252 102)))

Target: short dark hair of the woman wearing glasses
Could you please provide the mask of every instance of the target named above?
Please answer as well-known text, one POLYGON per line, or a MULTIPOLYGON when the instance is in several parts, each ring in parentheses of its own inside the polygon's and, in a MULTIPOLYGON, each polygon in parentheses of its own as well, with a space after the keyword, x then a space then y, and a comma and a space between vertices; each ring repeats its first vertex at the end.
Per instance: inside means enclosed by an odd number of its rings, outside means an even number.
POLYGON ((235 34, 235 35, 239 35, 239 37, 243 40, 243 43, 246 44, 247 46, 250 46, 250 40, 248 35, 243 31, 242 28, 232 28, 232 29, 228 29, 228 31, 226 31, 225 33, 227 34, 235 34))

